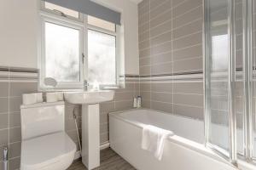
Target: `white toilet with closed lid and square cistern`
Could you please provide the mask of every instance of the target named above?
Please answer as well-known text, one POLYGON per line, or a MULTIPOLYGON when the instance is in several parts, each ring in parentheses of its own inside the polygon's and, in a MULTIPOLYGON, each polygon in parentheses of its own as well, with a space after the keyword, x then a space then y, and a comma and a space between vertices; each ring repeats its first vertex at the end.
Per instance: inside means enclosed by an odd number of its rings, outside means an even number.
POLYGON ((21 105, 21 170, 65 170, 76 144, 65 133, 64 102, 21 105))

